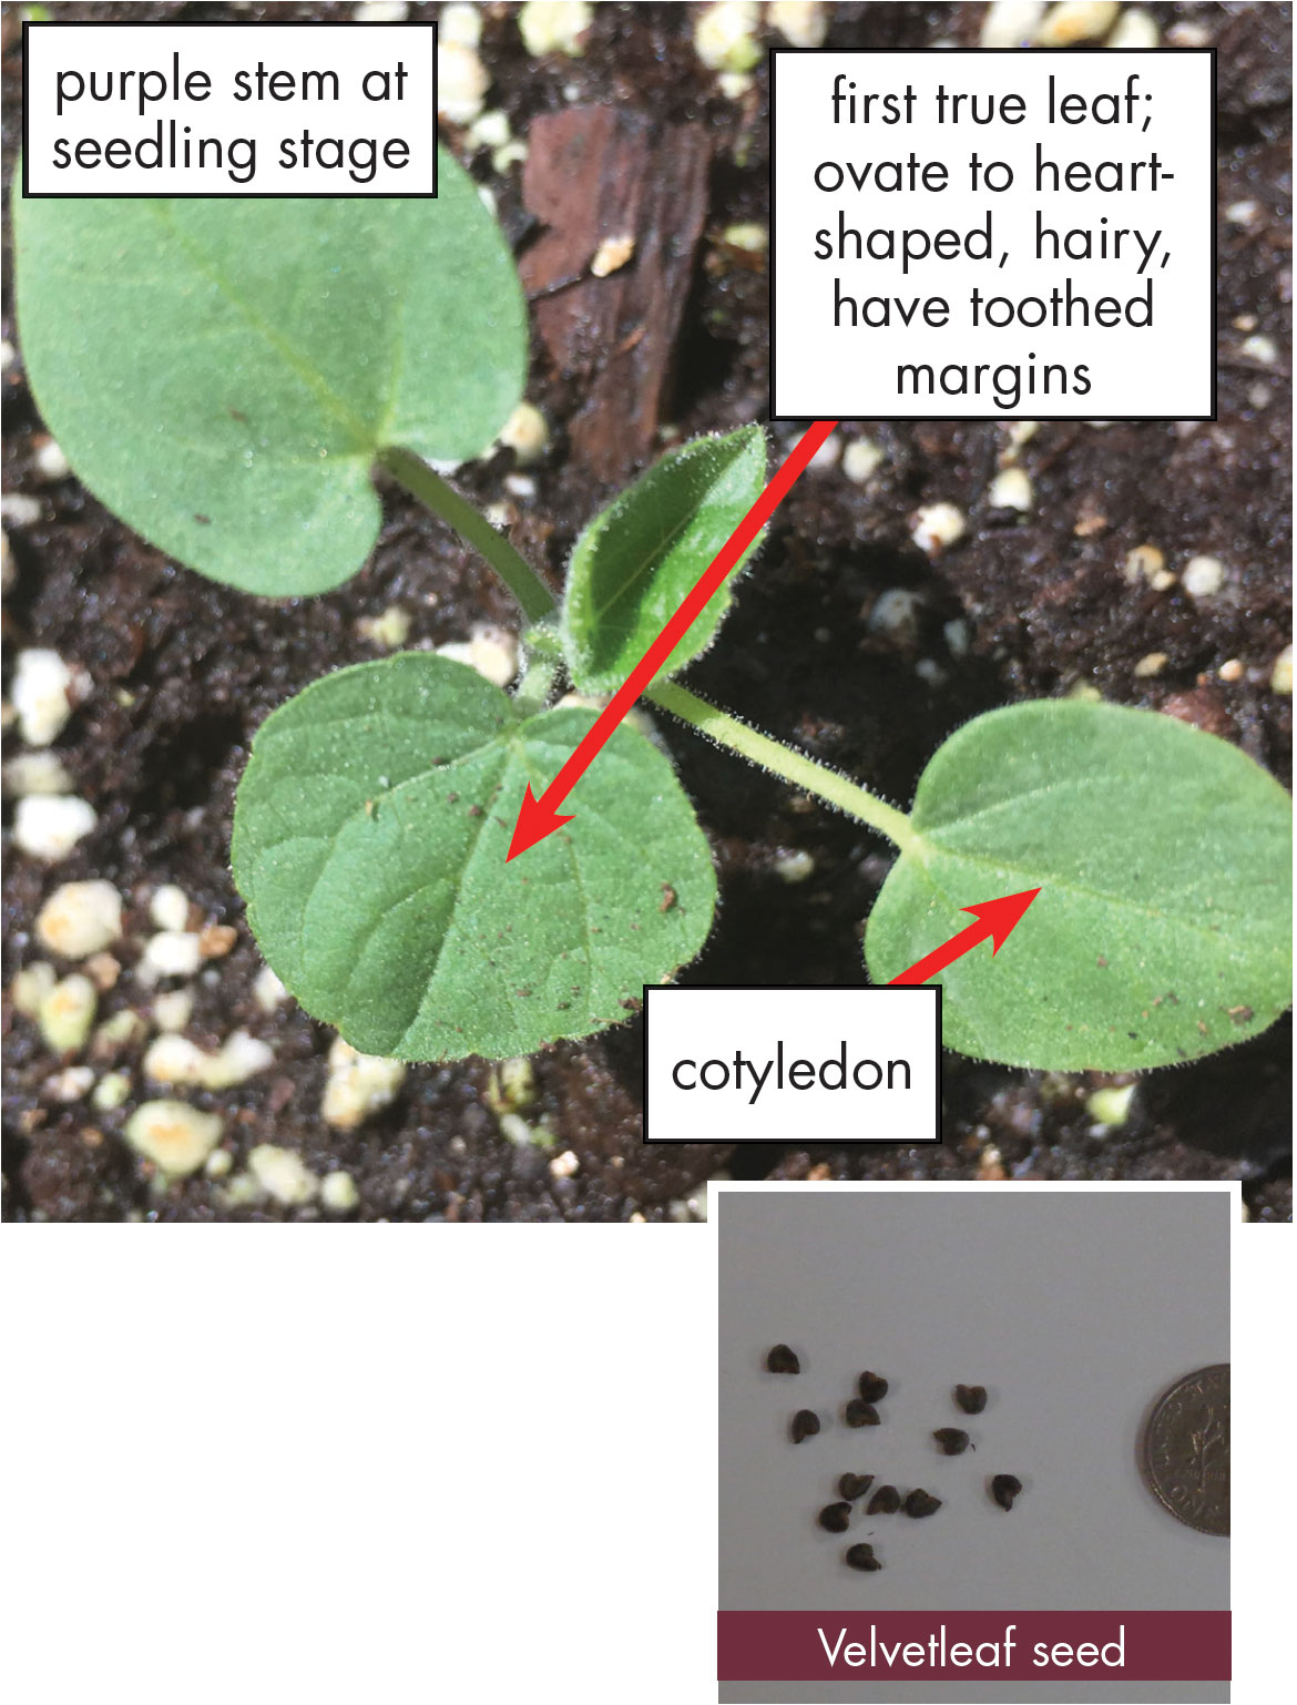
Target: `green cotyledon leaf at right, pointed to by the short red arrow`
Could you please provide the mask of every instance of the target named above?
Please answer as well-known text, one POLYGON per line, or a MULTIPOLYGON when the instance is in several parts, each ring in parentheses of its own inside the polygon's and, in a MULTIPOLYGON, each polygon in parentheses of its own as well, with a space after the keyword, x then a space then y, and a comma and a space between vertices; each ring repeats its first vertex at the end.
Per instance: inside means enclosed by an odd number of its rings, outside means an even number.
POLYGON ((864 939, 874 982, 1040 887, 941 984, 944 1040, 1048 1071, 1135 1071, 1242 1042, 1292 999, 1292 801, 1186 723, 1041 701, 978 716, 924 771, 915 841, 864 939))

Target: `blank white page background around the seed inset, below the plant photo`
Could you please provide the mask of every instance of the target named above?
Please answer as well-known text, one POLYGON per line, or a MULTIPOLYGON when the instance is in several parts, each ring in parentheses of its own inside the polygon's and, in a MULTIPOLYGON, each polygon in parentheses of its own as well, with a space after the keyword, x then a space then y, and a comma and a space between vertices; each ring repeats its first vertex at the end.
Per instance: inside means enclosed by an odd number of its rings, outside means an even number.
MULTIPOLYGON (((1288 1671, 1292 1279, 1234 1226, 1236 1705, 1288 1671)), ((716 1700, 709 1228, 5 1226, 0 1282, 24 1705, 716 1700)))

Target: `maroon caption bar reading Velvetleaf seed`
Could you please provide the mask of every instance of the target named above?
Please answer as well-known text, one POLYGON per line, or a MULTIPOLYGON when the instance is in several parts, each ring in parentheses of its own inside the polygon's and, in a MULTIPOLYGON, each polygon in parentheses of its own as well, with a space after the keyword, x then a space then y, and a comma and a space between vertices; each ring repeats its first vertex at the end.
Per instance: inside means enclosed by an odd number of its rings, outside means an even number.
POLYGON ((719 1611, 719 1681, 1229 1681, 1229 1611, 719 1611))

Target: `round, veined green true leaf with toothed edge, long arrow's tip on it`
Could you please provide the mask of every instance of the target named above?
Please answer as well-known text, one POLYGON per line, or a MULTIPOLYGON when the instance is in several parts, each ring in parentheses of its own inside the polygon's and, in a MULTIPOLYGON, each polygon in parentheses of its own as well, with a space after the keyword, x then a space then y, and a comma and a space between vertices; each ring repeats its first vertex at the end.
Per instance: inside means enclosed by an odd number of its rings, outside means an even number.
POLYGON ((573 822, 504 863, 593 723, 520 713, 462 663, 407 651, 326 675, 266 720, 233 820, 261 950, 366 1054, 530 1054, 619 1023, 707 938, 716 878, 670 764, 619 728, 573 822))

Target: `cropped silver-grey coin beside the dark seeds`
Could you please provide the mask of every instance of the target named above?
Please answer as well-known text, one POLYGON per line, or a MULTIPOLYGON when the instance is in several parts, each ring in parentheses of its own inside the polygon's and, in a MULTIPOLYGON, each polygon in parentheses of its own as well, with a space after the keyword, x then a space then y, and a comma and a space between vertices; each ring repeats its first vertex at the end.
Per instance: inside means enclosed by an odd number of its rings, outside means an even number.
POLYGON ((1229 1533, 1229 1362, 1161 1395, 1144 1427, 1144 1478, 1176 1521, 1229 1533))

